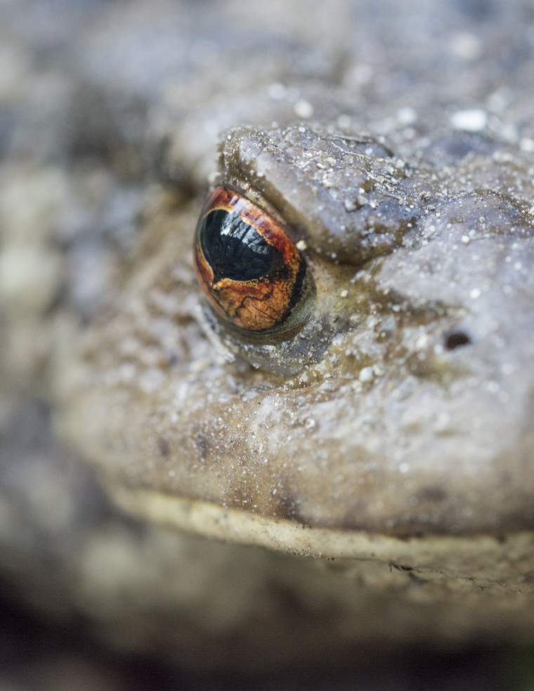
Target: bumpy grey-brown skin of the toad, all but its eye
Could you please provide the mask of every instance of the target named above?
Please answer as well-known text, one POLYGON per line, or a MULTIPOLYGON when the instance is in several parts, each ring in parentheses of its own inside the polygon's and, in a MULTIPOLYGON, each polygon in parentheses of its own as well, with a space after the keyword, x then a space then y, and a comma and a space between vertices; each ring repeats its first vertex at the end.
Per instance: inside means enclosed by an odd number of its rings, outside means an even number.
POLYGON ((193 666, 531 631, 530 6, 54 7, 2 6, 18 587, 193 666), (204 303, 220 184, 304 243, 288 341, 204 303))

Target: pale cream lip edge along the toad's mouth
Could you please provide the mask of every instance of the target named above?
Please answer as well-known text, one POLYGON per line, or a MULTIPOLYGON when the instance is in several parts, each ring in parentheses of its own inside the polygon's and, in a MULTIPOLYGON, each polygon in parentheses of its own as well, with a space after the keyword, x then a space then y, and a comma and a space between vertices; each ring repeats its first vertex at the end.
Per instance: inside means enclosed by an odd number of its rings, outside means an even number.
POLYGON ((401 539, 363 530, 311 527, 149 489, 115 485, 108 491, 126 513, 205 537, 308 557, 379 561, 467 579, 477 586, 509 585, 516 593, 533 590, 522 578, 534 569, 533 531, 510 534, 505 541, 489 534, 401 539))

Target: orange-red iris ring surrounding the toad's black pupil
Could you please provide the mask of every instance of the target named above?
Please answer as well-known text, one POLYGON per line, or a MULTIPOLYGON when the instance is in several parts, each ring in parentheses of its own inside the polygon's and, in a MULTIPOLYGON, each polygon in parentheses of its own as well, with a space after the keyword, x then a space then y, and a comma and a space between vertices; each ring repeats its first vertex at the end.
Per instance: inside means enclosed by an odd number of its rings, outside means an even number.
POLYGON ((283 322, 294 301, 302 258, 287 231, 259 206, 227 187, 214 190, 200 216, 194 255, 200 285, 219 315, 247 331, 266 331, 283 322), (199 231, 208 214, 218 209, 239 213, 245 223, 278 251, 285 271, 248 281, 223 278, 214 284, 214 272, 204 256, 199 231))

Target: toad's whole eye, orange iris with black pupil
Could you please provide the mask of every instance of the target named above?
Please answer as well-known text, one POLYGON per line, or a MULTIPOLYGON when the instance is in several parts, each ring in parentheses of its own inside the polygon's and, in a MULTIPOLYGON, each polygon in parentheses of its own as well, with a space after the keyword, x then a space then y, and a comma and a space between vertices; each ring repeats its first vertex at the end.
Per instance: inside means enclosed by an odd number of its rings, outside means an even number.
POLYGON ((233 326, 294 331, 313 311, 313 279, 287 231, 235 190, 218 187, 195 233, 197 278, 211 306, 233 326))

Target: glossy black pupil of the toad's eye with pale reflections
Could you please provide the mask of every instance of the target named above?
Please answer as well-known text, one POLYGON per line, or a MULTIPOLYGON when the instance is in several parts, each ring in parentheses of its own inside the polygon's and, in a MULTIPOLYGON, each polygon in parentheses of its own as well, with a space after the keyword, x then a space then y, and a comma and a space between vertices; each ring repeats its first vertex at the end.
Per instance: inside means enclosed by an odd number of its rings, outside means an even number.
POLYGON ((214 283, 223 278, 251 281, 273 272, 280 254, 239 213, 216 209, 204 218, 200 242, 214 272, 214 283))

